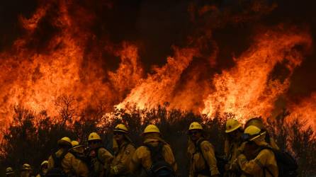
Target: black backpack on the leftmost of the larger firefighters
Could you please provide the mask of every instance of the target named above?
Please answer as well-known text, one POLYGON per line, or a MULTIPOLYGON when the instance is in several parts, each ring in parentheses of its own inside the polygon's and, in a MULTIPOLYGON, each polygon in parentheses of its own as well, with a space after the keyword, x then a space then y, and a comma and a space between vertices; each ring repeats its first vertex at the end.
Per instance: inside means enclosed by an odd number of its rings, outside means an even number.
POLYGON ((54 159, 54 168, 50 169, 46 173, 46 177, 67 177, 67 174, 64 173, 62 169, 62 160, 68 152, 63 152, 60 156, 56 156, 55 153, 52 154, 52 159, 54 159))

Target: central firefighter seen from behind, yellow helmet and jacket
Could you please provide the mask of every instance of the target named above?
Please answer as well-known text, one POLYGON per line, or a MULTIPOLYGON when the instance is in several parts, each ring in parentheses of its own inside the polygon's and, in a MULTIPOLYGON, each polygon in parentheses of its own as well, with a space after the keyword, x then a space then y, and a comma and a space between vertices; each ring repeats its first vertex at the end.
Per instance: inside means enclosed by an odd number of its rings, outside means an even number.
MULTIPOLYGON (((160 131, 156 125, 148 125, 142 136, 144 137, 144 142, 141 147, 138 147, 134 154, 132 155, 132 160, 130 161, 130 171, 132 173, 138 173, 138 176, 146 176, 148 173, 152 173, 150 169, 154 167, 152 161, 152 155, 149 147, 161 148, 162 160, 168 164, 170 170, 175 173, 177 166, 176 160, 174 159, 174 153, 167 142, 162 139, 160 131)), ((170 173, 167 171, 160 171, 159 173, 170 173)))

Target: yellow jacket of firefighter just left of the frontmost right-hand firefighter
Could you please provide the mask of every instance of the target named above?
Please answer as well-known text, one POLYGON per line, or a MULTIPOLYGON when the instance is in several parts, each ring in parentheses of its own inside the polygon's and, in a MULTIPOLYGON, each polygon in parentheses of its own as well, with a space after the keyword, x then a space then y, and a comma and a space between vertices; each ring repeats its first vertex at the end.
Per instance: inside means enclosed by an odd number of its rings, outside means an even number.
POLYGON ((244 144, 242 144, 242 139, 240 141, 229 141, 225 139, 224 152, 228 160, 225 166, 225 176, 226 177, 237 177, 239 176, 239 166, 237 164, 237 157, 242 154, 244 149, 244 144))

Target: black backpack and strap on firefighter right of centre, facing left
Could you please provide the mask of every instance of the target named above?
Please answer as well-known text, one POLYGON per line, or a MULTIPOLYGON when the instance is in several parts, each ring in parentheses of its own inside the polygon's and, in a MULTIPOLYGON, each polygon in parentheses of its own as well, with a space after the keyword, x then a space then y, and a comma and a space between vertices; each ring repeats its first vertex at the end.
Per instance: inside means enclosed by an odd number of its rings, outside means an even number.
MULTIPOLYGON (((207 141, 206 139, 201 139, 198 141, 196 152, 200 152, 205 163, 205 157, 201 151, 201 144, 202 142, 207 141)), ((218 166, 218 171, 220 172, 219 176, 224 176, 225 173, 225 165, 228 164, 228 160, 224 156, 220 156, 215 152, 215 159, 216 159, 216 166, 218 166)), ((207 164, 207 163, 206 163, 207 164)), ((205 175, 205 176, 210 176, 210 166, 206 165, 206 168, 203 169, 202 171, 198 171, 197 173, 205 175)))

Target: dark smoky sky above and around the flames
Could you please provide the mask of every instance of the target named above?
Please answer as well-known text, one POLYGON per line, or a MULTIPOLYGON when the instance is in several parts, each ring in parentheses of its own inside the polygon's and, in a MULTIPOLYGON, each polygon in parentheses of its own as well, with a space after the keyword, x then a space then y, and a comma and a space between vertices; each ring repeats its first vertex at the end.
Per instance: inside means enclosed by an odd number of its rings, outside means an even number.
MULTIPOLYGON (((243 7, 237 2, 247 4, 251 0, 205 0, 196 1, 197 6, 214 4, 220 9, 229 7, 232 11, 242 13, 243 7)), ((172 54, 171 45, 186 45, 187 37, 196 33, 199 25, 208 25, 202 21, 193 23, 188 13, 191 1, 144 1, 117 0, 113 1, 113 8, 103 11, 104 1, 86 1, 86 6, 98 16, 98 23, 93 30, 96 36, 104 33, 111 42, 123 40, 134 41, 140 45, 140 58, 149 71, 153 64, 162 65, 166 57, 172 54), (103 32, 103 29, 105 29, 103 32), (149 50, 150 49, 150 50, 149 50), (149 52, 150 51, 150 52, 149 52)), ((313 41, 316 39, 316 1, 298 0, 266 0, 266 3, 276 3, 278 6, 268 14, 252 21, 233 24, 227 23, 213 29, 213 39, 220 48, 218 68, 232 67, 232 54, 239 55, 250 45, 250 37, 257 26, 273 26, 278 23, 288 23, 306 26, 310 29, 313 41)), ((0 2, 0 50, 10 47, 12 42, 23 34, 18 23, 18 16, 29 17, 37 8, 35 0, 11 0, 0 2)), ((312 49, 305 57, 300 67, 295 69, 291 77, 288 95, 293 99, 308 96, 316 91, 316 54, 312 49)), ((115 65, 115 63, 113 63, 115 65)))

